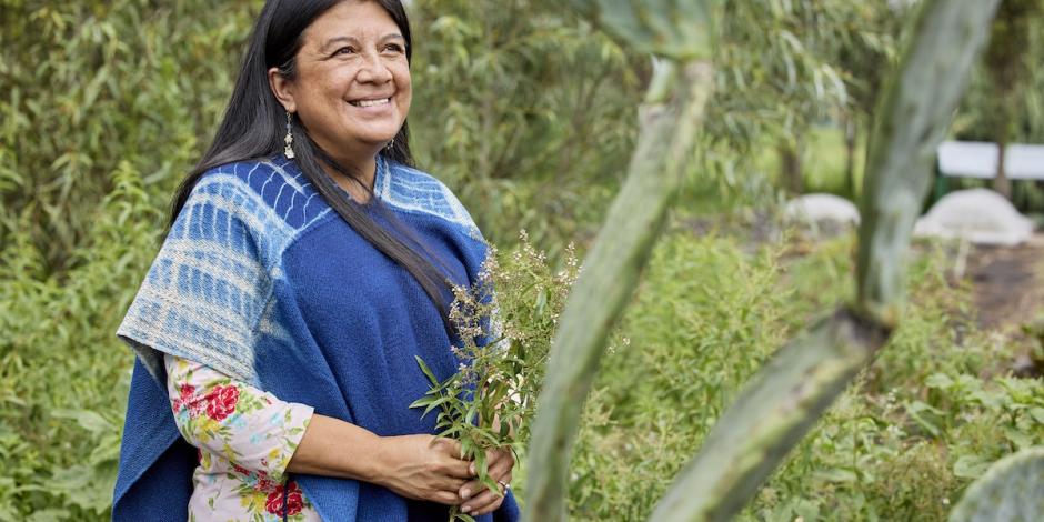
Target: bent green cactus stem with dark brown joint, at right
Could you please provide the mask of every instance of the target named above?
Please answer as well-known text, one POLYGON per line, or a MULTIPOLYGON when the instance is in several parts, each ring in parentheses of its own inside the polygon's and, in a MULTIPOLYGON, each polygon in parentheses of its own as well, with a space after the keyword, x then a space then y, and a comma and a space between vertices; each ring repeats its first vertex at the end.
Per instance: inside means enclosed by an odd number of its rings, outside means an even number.
POLYGON ((922 2, 875 113, 860 229, 859 310, 841 310, 821 322, 745 384, 650 520, 731 520, 884 344, 897 312, 882 310, 896 310, 902 297, 895 281, 905 275, 910 229, 931 180, 928 160, 950 126, 998 1, 922 2), (881 288, 887 291, 875 292, 881 288))

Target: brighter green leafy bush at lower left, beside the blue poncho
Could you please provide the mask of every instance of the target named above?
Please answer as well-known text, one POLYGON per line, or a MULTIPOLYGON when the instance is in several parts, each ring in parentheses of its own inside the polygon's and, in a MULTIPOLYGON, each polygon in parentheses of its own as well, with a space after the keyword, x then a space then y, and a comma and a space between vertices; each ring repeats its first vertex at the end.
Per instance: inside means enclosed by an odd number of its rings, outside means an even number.
POLYGON ((124 162, 70 258, 43 278, 31 231, 0 263, 0 519, 101 518, 111 502, 131 359, 113 337, 161 221, 141 173, 124 162))

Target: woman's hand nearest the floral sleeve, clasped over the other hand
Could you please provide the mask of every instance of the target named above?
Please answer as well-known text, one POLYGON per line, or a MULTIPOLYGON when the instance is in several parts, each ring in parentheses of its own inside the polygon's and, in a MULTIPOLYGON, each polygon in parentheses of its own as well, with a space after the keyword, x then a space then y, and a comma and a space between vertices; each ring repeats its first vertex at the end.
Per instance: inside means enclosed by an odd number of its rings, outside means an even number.
MULTIPOLYGON (((459 505, 458 492, 474 476, 471 462, 460 459, 460 443, 434 435, 383 436, 374 483, 401 496, 459 505)), ((513 463, 513 461, 512 461, 513 463)))

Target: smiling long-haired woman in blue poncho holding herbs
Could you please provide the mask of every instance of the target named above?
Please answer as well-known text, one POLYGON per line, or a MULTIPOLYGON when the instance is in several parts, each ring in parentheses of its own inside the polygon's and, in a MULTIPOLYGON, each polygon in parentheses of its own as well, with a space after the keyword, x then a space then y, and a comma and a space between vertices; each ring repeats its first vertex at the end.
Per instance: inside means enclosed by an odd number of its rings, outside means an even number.
POLYGON ((138 361, 114 520, 518 518, 510 452, 494 494, 409 408, 415 357, 455 371, 450 284, 486 253, 409 167, 411 44, 399 0, 265 3, 117 332, 138 361))

